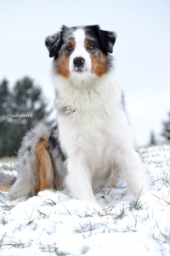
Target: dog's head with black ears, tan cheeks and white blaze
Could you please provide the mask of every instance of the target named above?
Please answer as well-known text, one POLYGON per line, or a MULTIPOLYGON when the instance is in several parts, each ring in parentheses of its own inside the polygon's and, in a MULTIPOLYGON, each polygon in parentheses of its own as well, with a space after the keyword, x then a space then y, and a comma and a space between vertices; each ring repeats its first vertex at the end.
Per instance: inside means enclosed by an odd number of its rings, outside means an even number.
POLYGON ((98 25, 62 26, 61 31, 46 38, 45 44, 59 75, 101 77, 111 67, 115 41, 115 32, 101 30, 98 25))

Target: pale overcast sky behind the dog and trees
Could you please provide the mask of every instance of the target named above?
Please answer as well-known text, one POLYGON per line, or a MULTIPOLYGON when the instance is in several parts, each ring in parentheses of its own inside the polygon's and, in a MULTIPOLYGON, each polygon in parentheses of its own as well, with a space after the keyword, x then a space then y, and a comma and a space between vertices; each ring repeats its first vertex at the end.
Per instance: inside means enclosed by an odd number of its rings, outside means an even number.
POLYGON ((44 39, 63 24, 116 32, 116 73, 136 141, 159 135, 170 111, 170 1, 0 0, 0 80, 28 75, 53 97, 44 39))

